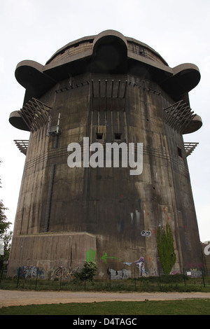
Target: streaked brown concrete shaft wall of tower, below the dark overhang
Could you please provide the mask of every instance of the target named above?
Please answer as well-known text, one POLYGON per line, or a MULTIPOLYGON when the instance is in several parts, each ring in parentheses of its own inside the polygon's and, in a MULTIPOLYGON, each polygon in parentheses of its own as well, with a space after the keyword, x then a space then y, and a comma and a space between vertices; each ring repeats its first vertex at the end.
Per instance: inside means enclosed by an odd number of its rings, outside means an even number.
MULTIPOLYGON (((144 256, 148 267, 158 267, 156 232, 158 225, 169 223, 177 262, 184 262, 185 266, 198 264, 199 236, 183 139, 165 125, 163 118, 162 109, 172 100, 164 93, 132 85, 127 89, 125 109, 91 111, 90 84, 85 84, 85 78, 80 77, 84 85, 55 94, 53 104, 52 92, 43 97, 43 102, 53 108, 52 125, 61 113, 62 134, 57 148, 57 137, 46 137, 46 127, 31 134, 15 232, 20 235, 44 232, 50 170, 55 165, 49 232, 86 231, 102 235, 103 243, 99 241, 97 246, 98 262, 102 262, 106 252, 125 262, 144 256), (103 134, 104 144, 113 142, 115 133, 121 134, 120 142, 143 143, 142 174, 130 176, 130 168, 69 168, 68 144, 82 144, 83 137, 90 137, 92 144, 97 141, 97 132, 103 134), (183 158, 179 157, 178 146, 183 158), (150 237, 141 235, 145 230, 151 232, 150 237)), ((102 83, 105 78, 100 78, 102 83)), ((135 77, 127 76, 127 79, 135 80, 135 77)), ((151 83, 151 87, 154 85, 151 83)))

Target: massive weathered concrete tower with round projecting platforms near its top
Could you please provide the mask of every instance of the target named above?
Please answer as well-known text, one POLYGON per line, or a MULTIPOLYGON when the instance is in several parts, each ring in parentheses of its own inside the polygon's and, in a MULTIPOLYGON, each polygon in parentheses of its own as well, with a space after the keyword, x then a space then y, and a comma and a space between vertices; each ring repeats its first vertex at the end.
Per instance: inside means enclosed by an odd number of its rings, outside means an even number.
POLYGON ((65 45, 45 65, 20 62, 15 77, 26 92, 9 120, 30 137, 15 141, 26 160, 8 274, 96 260, 103 277, 107 268, 129 273, 141 257, 155 274, 157 230, 167 223, 174 268, 202 267, 187 164, 197 144, 183 142, 202 126, 188 98, 197 66, 171 68, 148 45, 108 30, 65 45), (104 148, 103 166, 94 143, 104 148), (128 162, 107 166, 108 143, 120 146, 120 157, 122 143, 127 157, 133 143, 135 159, 142 143, 142 172, 131 174, 128 162), (69 167, 73 155, 80 166, 69 167))

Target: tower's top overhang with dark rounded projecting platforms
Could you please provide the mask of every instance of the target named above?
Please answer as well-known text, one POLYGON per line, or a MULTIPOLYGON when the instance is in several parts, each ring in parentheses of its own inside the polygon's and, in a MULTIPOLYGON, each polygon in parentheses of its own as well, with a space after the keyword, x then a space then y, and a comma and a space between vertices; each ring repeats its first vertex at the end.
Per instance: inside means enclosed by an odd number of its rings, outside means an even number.
MULTIPOLYGON (((23 106, 32 97, 40 98, 60 80, 85 72, 135 76, 142 76, 144 72, 145 78, 158 83, 174 101, 188 98, 188 92, 200 82, 200 70, 195 64, 171 68, 158 52, 145 43, 125 37, 118 31, 107 30, 97 36, 86 36, 68 43, 57 50, 45 65, 31 60, 20 62, 15 69, 15 78, 26 90, 23 106)), ((19 116, 15 119, 15 112, 11 113, 10 123, 25 129, 19 116)))

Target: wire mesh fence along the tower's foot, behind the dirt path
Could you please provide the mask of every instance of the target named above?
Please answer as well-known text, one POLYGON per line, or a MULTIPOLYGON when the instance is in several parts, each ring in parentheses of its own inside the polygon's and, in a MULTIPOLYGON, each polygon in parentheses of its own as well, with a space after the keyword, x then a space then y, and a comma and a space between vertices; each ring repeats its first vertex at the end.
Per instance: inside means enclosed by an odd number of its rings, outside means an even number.
POLYGON ((98 269, 92 281, 76 278, 80 269, 57 267, 47 273, 38 267, 19 267, 8 277, 7 269, 0 269, 1 289, 25 290, 92 290, 92 291, 210 291, 210 276, 204 269, 177 269, 165 275, 154 269, 156 275, 133 268, 98 269), (102 275, 104 274, 104 275, 102 275), (102 279, 100 279, 100 276, 102 279))

